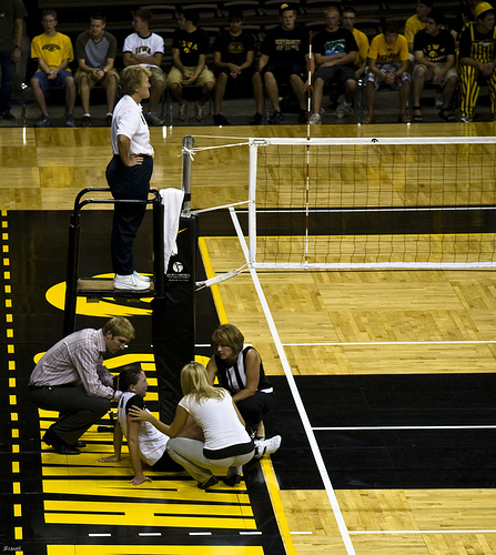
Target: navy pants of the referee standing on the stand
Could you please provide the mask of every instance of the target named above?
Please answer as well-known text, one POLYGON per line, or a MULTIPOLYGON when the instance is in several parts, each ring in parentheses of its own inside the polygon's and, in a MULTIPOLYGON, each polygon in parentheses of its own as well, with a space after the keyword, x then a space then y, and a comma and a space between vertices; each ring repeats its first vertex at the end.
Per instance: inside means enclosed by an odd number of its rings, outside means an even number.
MULTIPOLYGON (((153 173, 153 158, 144 157, 141 165, 126 168, 119 155, 114 155, 107 167, 107 181, 115 200, 145 201, 153 173)), ((130 275, 134 271, 133 242, 143 221, 146 204, 117 203, 112 223, 112 270, 119 275, 130 275)))

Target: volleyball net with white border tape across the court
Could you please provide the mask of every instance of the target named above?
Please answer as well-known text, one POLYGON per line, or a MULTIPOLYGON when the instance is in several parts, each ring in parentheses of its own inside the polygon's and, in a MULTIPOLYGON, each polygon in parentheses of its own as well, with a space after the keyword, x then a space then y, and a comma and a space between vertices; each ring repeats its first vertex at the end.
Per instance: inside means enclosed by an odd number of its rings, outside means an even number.
POLYGON ((496 265, 496 138, 251 139, 250 264, 496 265))

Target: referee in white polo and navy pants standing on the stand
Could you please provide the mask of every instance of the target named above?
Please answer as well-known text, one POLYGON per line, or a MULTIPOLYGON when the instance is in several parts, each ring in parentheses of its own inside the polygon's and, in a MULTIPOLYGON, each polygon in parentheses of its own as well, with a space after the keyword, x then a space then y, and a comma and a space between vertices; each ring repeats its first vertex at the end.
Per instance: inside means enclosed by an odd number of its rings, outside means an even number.
MULTIPOLYGON (((153 173, 153 147, 140 102, 150 97, 150 70, 129 65, 121 73, 124 95, 112 119, 113 158, 107 167, 107 181, 115 200, 148 199, 153 173)), ((112 226, 112 269, 114 289, 143 291, 150 279, 140 275, 133 265, 133 241, 143 221, 145 204, 115 203, 112 226)))

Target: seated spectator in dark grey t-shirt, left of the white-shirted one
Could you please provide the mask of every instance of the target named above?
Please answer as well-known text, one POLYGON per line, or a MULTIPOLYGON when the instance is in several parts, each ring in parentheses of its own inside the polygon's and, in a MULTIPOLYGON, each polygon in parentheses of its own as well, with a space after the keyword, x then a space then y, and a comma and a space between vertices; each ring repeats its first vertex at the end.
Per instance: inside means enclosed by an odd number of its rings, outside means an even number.
POLYGON ((81 95, 83 119, 81 127, 91 125, 90 91, 100 84, 107 92, 107 124, 112 124, 112 112, 119 83, 119 73, 113 67, 118 43, 115 37, 105 31, 107 18, 94 13, 90 30, 83 31, 75 41, 75 58, 79 68, 74 80, 81 95))

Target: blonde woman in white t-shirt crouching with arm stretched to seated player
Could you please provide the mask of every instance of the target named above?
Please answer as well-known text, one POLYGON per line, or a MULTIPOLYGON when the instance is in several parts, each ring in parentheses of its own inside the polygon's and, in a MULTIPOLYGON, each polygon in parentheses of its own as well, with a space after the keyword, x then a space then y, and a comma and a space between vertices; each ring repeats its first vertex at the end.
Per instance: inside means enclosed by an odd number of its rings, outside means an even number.
POLYGON ((170 437, 166 445, 170 457, 196 480, 201 490, 219 482, 214 473, 224 474, 223 481, 230 486, 239 484, 242 466, 253 458, 255 447, 231 395, 210 385, 206 369, 198 362, 182 369, 181 387, 184 396, 171 425, 138 407, 132 407, 129 414, 151 422, 170 437), (203 442, 179 437, 190 416, 203 430, 203 442))

